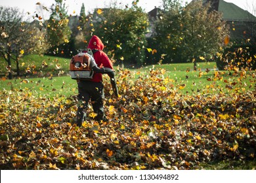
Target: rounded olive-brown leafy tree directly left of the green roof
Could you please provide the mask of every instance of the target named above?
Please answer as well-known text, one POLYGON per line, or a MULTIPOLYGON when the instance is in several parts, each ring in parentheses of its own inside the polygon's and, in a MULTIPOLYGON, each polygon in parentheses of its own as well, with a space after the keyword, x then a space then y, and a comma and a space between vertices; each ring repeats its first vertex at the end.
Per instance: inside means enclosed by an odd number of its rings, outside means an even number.
POLYGON ((211 58, 229 35, 222 14, 209 9, 210 4, 203 6, 200 0, 192 1, 182 12, 184 41, 179 48, 186 50, 184 56, 189 60, 211 58))

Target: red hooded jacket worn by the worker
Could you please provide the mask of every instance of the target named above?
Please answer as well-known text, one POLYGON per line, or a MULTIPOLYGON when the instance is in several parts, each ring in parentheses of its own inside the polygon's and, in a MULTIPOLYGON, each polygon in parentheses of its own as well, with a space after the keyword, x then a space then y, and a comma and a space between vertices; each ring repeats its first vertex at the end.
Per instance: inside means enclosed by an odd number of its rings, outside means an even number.
MULTIPOLYGON (((98 50, 98 52, 95 52, 93 54, 93 57, 95 58, 95 62, 98 65, 98 67, 108 67, 110 69, 113 69, 112 62, 108 58, 108 56, 102 51, 104 49, 104 44, 100 40, 99 37, 94 35, 91 40, 89 41, 89 45, 87 48, 91 48, 91 50, 98 50)), ((101 73, 95 73, 93 76, 93 82, 101 82, 102 81, 102 74, 101 73)))

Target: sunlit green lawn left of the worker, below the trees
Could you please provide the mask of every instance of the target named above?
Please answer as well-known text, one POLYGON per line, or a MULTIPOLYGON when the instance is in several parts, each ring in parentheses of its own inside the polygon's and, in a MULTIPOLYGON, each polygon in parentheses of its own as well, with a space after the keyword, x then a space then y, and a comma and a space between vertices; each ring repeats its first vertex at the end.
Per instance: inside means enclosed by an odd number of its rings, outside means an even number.
MULTIPOLYGON (((6 62, 1 60, 0 75, 7 75, 6 62)), ((53 56, 28 55, 20 59, 19 77, 0 81, 3 90, 20 90, 34 95, 74 95, 76 81, 68 75, 70 59, 53 56), (27 72, 30 69, 29 73, 27 72)), ((15 71, 15 69, 14 69, 15 71)))

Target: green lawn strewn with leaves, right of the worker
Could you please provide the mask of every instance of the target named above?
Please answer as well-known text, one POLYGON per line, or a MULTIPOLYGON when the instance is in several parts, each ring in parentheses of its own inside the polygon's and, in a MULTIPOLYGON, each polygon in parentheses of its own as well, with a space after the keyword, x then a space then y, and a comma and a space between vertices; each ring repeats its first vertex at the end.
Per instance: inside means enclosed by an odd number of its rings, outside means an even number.
MULTIPOLYGON (((164 65, 153 65, 134 69, 134 71, 146 72, 150 69, 165 69, 165 76, 172 78, 181 93, 243 93, 245 90, 255 88, 255 72, 228 73, 218 71, 215 62, 202 62, 197 64, 194 71, 194 63, 173 63, 164 65)), ((133 70, 133 69, 132 69, 133 70)))

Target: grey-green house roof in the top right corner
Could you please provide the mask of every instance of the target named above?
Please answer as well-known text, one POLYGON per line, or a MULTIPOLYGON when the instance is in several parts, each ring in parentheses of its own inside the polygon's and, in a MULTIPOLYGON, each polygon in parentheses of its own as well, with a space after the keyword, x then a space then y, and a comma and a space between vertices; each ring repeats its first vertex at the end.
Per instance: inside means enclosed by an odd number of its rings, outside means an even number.
POLYGON ((227 3, 223 0, 219 0, 218 11, 223 13, 223 20, 248 22, 256 21, 256 17, 250 14, 247 10, 243 10, 233 3, 227 3))

